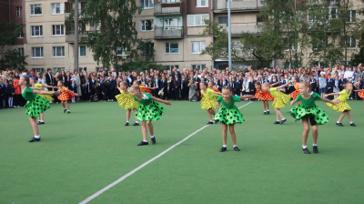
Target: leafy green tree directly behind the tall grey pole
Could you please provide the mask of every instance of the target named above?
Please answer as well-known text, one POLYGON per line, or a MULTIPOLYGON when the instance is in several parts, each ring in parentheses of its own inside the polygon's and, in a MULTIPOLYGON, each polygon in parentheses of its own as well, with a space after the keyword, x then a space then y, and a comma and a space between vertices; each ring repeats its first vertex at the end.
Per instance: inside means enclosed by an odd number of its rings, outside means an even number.
MULTIPOLYGON (((228 57, 227 31, 218 23, 205 20, 207 27, 201 36, 215 36, 214 43, 210 43, 200 55, 210 55, 212 59, 228 57)), ((269 66, 271 61, 280 55, 281 44, 277 41, 277 33, 266 32, 261 36, 242 32, 239 42, 231 42, 232 61, 243 62, 253 68, 269 66)))

